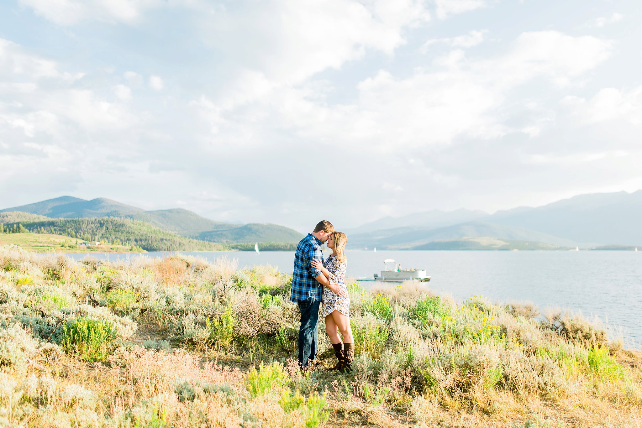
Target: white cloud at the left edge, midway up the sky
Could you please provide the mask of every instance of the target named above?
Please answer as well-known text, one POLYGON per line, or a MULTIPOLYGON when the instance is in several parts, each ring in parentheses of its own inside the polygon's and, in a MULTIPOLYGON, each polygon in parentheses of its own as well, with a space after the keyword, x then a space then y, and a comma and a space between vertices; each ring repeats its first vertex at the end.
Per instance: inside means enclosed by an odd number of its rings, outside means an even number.
MULTIPOLYGON (((48 139, 74 144, 78 132, 100 135, 135 121, 123 105, 106 101, 94 90, 74 88, 82 76, 60 71, 58 63, 0 39, 0 95, 13 101, 0 103, 0 132, 6 141, 24 142, 27 137, 38 139, 38 144, 48 139)), ((131 97, 125 85, 113 90, 119 100, 131 97)))

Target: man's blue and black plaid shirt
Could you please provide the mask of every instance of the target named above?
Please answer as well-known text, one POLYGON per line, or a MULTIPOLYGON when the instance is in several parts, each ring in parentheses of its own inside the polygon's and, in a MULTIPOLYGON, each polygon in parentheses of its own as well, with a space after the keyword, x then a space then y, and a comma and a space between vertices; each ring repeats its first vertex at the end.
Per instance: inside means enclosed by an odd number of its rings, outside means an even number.
POLYGON ((322 275, 322 273, 310 264, 312 259, 320 259, 323 263, 321 244, 322 242, 313 234, 308 234, 299 241, 297 252, 294 253, 294 273, 292 274, 292 292, 290 294, 292 302, 299 303, 309 297, 321 302, 323 286, 315 277, 322 275))

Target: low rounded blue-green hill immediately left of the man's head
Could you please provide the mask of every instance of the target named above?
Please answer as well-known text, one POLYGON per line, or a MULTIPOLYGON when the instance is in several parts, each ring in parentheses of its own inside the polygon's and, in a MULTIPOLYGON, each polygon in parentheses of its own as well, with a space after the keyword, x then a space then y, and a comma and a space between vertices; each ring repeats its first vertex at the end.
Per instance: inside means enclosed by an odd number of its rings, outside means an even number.
POLYGON ((248 223, 243 226, 232 226, 203 232, 198 235, 204 241, 232 243, 296 243, 303 235, 288 227, 270 223, 248 223))

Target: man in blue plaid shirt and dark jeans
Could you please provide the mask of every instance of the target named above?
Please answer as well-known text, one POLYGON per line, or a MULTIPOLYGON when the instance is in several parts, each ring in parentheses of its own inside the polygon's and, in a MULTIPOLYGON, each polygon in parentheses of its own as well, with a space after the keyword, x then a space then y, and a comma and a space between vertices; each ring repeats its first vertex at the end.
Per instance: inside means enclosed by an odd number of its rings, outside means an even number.
POLYGON ((294 254, 294 273, 290 300, 299 305, 301 325, 299 327, 299 365, 307 367, 315 363, 317 355, 317 333, 319 305, 323 286, 329 282, 320 270, 311 266, 312 259, 323 262, 321 244, 334 233, 334 226, 327 220, 320 221, 314 232, 301 239, 294 254))

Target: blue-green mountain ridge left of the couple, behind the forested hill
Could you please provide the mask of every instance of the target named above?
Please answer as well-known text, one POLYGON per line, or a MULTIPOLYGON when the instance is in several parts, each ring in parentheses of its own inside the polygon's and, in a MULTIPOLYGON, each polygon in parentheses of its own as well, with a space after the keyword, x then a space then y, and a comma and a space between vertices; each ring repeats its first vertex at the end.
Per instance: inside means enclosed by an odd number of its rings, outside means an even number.
POLYGON ((184 237, 217 243, 295 243, 303 237, 296 230, 271 223, 223 223, 182 208, 146 211, 107 198, 84 200, 60 196, 0 212, 26 212, 46 218, 126 218, 144 221, 184 237))

